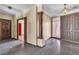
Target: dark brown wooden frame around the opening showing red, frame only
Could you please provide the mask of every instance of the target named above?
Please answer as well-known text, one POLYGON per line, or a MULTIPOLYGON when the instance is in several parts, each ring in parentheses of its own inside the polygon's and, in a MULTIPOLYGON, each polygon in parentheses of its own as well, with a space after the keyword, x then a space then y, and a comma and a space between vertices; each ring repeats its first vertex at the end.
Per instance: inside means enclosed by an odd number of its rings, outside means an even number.
POLYGON ((27 17, 17 19, 17 39, 18 39, 18 21, 24 20, 24 43, 27 42, 27 17))

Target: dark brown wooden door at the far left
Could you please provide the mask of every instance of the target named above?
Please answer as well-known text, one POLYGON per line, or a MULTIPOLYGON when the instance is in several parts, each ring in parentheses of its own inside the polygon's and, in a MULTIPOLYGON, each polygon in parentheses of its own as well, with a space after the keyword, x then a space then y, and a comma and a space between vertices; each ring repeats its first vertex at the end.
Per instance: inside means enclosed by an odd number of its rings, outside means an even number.
POLYGON ((1 21, 1 34, 2 39, 11 38, 11 22, 9 20, 1 21))

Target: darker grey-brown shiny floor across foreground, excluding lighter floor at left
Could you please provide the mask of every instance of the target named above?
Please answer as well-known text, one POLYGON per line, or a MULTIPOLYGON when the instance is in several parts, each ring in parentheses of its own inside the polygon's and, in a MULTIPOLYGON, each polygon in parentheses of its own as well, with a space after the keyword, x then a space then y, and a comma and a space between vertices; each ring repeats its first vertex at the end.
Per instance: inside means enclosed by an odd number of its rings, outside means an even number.
MULTIPOLYGON (((57 39, 49 39, 43 48, 35 47, 29 44, 25 46, 17 46, 11 49, 7 55, 78 55, 79 45, 60 41, 57 39)), ((6 55, 5 54, 5 55, 6 55)))

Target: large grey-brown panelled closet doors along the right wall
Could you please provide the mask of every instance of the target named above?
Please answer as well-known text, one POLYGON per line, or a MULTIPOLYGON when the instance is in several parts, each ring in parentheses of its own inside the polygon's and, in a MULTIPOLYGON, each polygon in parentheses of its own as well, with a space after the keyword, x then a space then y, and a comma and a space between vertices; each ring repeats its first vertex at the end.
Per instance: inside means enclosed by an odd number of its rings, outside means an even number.
POLYGON ((79 42, 79 13, 61 16, 61 37, 79 42))

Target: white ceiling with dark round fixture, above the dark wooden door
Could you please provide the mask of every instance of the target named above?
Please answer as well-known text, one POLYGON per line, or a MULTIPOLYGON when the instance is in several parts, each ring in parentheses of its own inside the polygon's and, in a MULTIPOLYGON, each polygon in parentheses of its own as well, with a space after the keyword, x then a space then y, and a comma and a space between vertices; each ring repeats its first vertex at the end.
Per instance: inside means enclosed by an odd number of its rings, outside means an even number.
POLYGON ((21 11, 32 7, 34 4, 0 4, 0 12, 15 15, 21 11), (8 6, 12 7, 9 9, 8 6))

